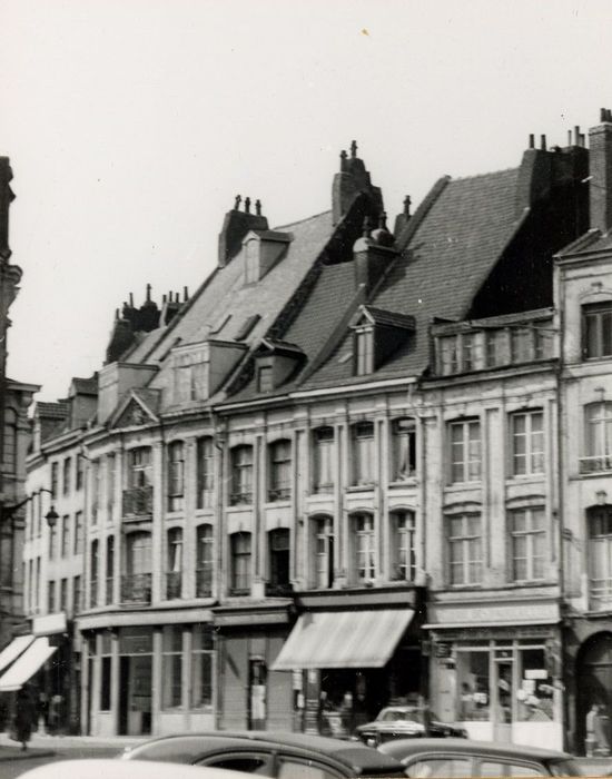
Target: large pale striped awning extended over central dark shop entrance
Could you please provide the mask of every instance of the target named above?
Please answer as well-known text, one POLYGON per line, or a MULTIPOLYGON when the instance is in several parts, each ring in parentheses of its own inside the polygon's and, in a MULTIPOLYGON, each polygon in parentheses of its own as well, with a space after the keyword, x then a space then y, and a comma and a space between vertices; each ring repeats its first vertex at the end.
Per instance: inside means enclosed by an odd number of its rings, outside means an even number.
POLYGON ((272 670, 383 668, 413 615, 412 609, 307 612, 297 620, 272 670))

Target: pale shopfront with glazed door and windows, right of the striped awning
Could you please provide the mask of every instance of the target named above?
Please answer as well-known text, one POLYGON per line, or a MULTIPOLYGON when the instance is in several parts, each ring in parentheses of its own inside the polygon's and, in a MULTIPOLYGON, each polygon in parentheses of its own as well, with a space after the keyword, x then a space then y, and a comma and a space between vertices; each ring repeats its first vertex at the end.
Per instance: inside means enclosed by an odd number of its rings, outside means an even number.
POLYGON ((437 717, 461 723, 474 739, 564 747, 555 600, 436 603, 428 615, 437 717))

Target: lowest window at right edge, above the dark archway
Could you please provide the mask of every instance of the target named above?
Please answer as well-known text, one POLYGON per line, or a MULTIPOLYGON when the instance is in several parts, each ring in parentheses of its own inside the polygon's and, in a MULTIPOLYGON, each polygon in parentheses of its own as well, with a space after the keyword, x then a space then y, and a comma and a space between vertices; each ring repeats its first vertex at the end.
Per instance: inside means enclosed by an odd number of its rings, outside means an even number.
POLYGON ((589 533, 589 594, 593 611, 612 607, 612 506, 586 510, 589 533))

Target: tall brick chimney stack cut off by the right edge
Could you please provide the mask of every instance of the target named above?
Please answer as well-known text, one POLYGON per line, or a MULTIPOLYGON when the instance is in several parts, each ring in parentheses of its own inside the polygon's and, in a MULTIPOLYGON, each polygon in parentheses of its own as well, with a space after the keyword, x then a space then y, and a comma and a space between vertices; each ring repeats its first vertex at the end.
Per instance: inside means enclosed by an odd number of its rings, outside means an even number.
POLYGON ((596 127, 589 130, 589 200, 591 227, 608 233, 612 227, 612 111, 601 109, 596 127))

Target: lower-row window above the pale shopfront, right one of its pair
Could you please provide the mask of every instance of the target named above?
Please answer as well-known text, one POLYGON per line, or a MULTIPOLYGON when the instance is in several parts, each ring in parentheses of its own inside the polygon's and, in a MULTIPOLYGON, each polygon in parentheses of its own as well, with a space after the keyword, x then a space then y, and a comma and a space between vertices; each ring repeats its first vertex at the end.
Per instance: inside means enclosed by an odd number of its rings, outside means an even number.
POLYGON ((544 579, 546 527, 544 509, 510 512, 512 578, 514 581, 544 579))

